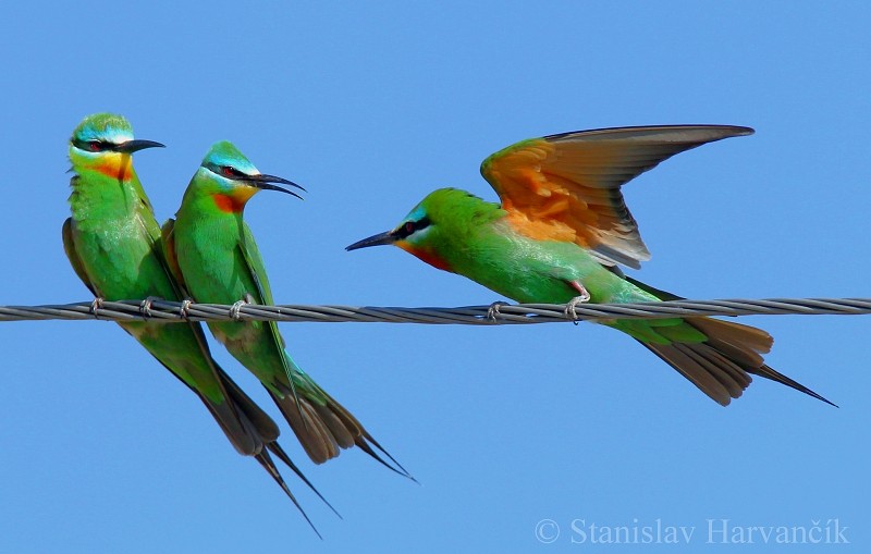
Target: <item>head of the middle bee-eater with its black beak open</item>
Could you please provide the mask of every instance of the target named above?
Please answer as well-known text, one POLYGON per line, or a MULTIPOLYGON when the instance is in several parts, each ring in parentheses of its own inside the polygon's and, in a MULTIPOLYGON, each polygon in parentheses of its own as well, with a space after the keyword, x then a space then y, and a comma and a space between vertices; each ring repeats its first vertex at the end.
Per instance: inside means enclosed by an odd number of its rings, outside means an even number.
POLYGON ((212 196, 216 206, 225 212, 241 212, 245 204, 260 190, 279 190, 302 199, 302 196, 293 190, 273 183, 305 190, 286 178, 260 173, 254 163, 228 140, 212 145, 192 182, 201 188, 203 193, 212 196))

